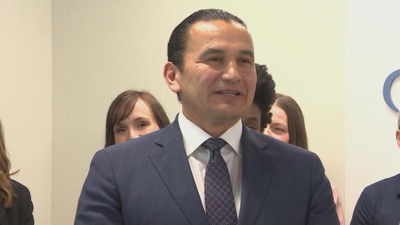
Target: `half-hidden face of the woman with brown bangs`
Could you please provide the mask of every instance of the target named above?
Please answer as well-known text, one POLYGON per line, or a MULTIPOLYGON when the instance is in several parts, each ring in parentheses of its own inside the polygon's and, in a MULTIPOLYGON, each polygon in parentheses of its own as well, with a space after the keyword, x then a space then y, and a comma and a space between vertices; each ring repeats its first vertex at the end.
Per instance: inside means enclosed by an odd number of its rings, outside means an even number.
POLYGON ((153 113, 147 104, 138 98, 128 117, 114 125, 114 141, 118 144, 156 130, 159 130, 159 127, 153 113))

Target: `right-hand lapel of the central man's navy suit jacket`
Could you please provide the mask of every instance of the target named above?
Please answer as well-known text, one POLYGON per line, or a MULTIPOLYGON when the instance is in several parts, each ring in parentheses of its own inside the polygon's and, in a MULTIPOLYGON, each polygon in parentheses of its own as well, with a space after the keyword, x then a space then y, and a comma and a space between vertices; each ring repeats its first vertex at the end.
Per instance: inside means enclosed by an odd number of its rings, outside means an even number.
POLYGON ((275 169, 274 149, 243 126, 242 198, 238 224, 254 224, 275 169))

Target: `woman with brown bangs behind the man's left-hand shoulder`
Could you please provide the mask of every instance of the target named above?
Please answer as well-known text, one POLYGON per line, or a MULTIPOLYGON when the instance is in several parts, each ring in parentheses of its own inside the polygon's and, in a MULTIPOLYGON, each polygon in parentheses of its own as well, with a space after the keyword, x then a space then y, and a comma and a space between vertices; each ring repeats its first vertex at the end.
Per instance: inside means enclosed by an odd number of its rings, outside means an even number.
POLYGON ((124 91, 108 109, 105 147, 140 137, 169 124, 167 114, 152 94, 147 91, 124 91))

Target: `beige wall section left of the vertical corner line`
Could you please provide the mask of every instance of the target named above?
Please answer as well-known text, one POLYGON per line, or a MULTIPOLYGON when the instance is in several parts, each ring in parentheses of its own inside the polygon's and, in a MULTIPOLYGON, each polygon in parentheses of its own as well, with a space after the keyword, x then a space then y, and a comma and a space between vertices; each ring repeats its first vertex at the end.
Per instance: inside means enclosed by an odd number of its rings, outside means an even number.
POLYGON ((51 216, 51 2, 0 0, 0 118, 12 178, 27 186, 36 224, 51 216))

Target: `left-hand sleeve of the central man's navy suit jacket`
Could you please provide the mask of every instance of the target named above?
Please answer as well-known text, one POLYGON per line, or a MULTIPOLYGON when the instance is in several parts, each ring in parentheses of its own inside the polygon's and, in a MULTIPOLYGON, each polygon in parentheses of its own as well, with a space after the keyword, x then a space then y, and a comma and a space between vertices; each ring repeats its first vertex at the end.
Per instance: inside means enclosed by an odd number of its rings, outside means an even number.
POLYGON ((123 224, 113 168, 104 150, 93 156, 79 197, 74 224, 123 224))

